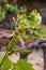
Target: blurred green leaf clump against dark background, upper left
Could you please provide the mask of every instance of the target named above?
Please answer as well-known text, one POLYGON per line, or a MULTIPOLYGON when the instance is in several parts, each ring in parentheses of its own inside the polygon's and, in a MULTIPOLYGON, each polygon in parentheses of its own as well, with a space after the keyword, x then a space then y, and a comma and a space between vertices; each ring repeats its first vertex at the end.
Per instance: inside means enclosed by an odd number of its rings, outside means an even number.
POLYGON ((12 4, 5 4, 4 10, 6 11, 6 13, 18 13, 18 9, 17 5, 12 5, 12 4))

